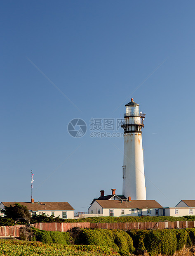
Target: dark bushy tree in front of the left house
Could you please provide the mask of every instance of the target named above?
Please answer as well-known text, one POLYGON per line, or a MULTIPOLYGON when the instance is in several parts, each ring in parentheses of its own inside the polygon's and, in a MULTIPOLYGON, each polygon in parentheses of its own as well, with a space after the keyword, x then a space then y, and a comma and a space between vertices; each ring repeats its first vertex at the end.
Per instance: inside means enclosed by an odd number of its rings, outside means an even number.
POLYGON ((0 209, 0 211, 4 214, 7 218, 12 218, 13 220, 18 220, 19 218, 25 218, 30 220, 31 213, 26 206, 23 206, 19 203, 11 204, 9 206, 4 206, 5 209, 0 209))

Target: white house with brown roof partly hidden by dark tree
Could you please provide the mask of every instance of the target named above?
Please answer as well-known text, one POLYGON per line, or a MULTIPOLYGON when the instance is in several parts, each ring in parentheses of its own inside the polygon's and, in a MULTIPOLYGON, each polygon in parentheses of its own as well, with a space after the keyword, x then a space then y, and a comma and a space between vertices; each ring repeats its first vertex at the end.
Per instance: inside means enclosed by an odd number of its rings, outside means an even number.
MULTIPOLYGON (((10 204, 14 206, 16 202, 1 202, 0 209, 4 209, 4 206, 9 206, 10 204)), ((49 216, 53 215, 59 218, 74 218, 74 209, 68 204, 68 202, 17 202, 23 206, 26 206, 30 211, 31 215, 47 214, 49 216)))

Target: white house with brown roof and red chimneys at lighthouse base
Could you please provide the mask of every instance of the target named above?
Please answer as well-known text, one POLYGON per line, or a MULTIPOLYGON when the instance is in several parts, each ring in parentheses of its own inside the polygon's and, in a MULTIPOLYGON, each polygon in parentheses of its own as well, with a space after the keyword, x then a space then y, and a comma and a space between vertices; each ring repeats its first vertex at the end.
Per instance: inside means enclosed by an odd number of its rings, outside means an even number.
POLYGON ((115 189, 112 195, 93 199, 88 211, 89 214, 102 214, 102 216, 159 216, 162 215, 162 206, 155 200, 131 200, 124 196, 117 196, 115 189))

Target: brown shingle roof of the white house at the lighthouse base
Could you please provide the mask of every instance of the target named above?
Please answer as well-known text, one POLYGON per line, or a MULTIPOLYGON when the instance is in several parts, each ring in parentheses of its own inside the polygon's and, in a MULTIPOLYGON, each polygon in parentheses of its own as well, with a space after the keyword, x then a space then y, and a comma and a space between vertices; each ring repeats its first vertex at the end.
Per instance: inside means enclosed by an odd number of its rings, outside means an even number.
POLYGON ((119 201, 119 200, 96 200, 102 208, 119 208, 119 209, 153 209, 162 208, 162 205, 155 200, 132 200, 132 201, 119 201))

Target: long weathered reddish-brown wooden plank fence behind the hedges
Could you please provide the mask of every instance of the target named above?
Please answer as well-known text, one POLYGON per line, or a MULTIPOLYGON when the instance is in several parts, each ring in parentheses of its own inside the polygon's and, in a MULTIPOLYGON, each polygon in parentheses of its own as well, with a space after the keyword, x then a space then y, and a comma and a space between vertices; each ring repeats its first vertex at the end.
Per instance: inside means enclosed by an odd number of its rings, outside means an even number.
MULTIPOLYGON (((19 237, 19 229, 25 225, 18 226, 0 226, 0 237, 14 236, 19 237)), ((71 228, 104 228, 104 229, 164 229, 164 228, 195 228, 195 220, 188 221, 165 221, 165 222, 123 222, 123 223, 35 223, 32 227, 40 230, 66 232, 71 228)))

